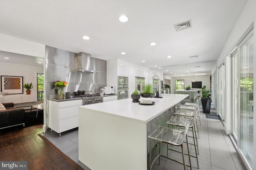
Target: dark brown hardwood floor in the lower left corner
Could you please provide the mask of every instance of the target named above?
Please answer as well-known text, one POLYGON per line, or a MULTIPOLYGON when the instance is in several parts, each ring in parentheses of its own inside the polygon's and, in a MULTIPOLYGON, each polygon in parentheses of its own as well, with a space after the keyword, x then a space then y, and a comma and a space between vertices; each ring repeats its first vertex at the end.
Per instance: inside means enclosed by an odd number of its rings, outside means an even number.
POLYGON ((58 152, 39 135, 42 124, 0 131, 0 160, 28 161, 29 170, 75 170, 82 168, 58 152))

